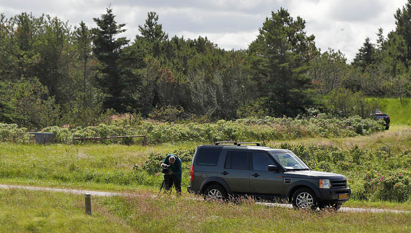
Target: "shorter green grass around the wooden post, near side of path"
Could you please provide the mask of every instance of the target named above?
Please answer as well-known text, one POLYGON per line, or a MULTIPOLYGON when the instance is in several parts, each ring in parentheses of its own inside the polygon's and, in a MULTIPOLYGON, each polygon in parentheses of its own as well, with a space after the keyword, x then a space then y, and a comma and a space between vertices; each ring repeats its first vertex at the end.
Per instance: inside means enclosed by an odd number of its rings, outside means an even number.
POLYGON ((130 232, 92 200, 86 216, 83 195, 0 190, 0 232, 130 232))

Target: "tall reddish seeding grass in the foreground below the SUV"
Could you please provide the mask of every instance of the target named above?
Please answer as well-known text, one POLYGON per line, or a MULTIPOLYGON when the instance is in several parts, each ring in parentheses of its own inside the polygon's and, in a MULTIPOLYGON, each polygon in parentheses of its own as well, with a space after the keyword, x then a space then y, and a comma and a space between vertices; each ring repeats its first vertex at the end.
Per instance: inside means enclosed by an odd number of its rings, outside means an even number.
POLYGON ((411 214, 297 211, 239 203, 151 198, 106 198, 102 205, 141 232, 405 232, 411 214))

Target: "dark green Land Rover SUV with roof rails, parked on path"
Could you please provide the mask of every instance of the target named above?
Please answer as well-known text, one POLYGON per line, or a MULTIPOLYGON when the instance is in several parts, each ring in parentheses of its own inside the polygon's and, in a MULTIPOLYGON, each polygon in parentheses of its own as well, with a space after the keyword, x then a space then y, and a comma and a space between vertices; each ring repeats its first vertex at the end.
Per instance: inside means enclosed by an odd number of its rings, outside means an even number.
POLYGON ((290 150, 227 141, 197 147, 187 190, 204 199, 283 199, 300 209, 339 209, 351 194, 344 175, 313 171, 290 150))

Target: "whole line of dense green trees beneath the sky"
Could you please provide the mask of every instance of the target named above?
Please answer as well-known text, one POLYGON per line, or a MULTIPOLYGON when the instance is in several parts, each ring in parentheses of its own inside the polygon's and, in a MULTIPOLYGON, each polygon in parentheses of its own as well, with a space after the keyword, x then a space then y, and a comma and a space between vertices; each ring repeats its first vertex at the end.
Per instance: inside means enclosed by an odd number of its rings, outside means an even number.
POLYGON ((134 41, 120 37, 125 24, 110 7, 94 18, 96 28, 0 14, 0 121, 42 128, 92 125, 113 113, 293 117, 313 105, 326 109, 326 95, 402 99, 410 94, 411 0, 395 19, 396 30, 384 38, 378 29, 377 44, 367 38, 348 64, 339 50, 316 48, 305 20, 283 8, 248 49, 229 51, 207 38, 169 38, 156 12, 147 13, 134 41))

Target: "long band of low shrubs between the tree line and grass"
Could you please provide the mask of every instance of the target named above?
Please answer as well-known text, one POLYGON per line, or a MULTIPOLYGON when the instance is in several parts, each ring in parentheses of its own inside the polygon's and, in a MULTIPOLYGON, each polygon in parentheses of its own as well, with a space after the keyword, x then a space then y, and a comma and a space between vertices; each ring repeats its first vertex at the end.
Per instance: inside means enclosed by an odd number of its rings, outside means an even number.
MULTIPOLYGON (((156 123, 151 121, 130 121, 120 119, 110 124, 63 129, 48 127, 42 132, 56 134, 59 143, 82 143, 72 141, 73 137, 108 137, 125 135, 147 135, 148 143, 177 141, 262 141, 285 140, 300 137, 350 137, 368 135, 384 129, 382 121, 361 119, 358 116, 347 118, 328 118, 326 114, 297 117, 244 118, 235 121, 219 120, 216 123, 156 123)), ((10 138, 10 137, 8 137, 10 138)), ((10 141, 21 141, 13 138, 10 141)), ((133 144, 141 139, 108 139, 83 143, 122 143, 133 144)))

